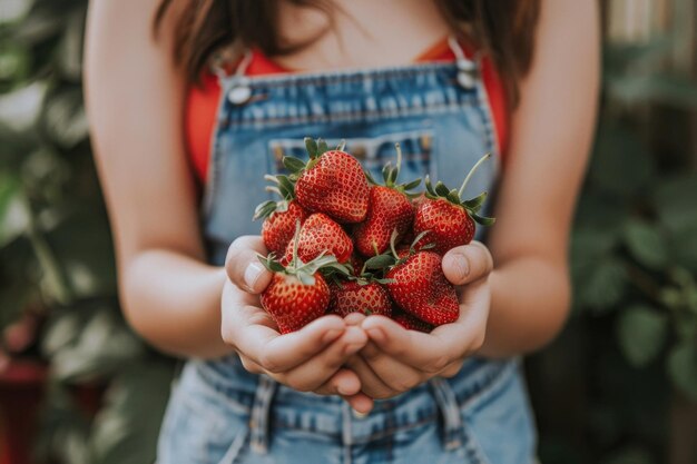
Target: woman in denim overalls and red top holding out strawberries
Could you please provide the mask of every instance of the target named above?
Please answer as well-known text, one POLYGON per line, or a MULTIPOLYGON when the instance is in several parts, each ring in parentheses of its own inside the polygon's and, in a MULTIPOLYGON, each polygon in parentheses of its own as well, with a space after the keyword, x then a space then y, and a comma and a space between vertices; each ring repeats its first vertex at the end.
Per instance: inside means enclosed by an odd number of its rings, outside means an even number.
POLYGON ((87 103, 124 310, 190 359, 159 462, 532 462, 517 356, 568 312, 598 36, 595 2, 573 0, 92 0, 87 103), (457 323, 275 330, 249 217, 304 136, 347 139, 367 169, 399 141, 406 176, 450 186, 494 155, 471 187, 495 187, 497 225, 443 258, 457 323))

